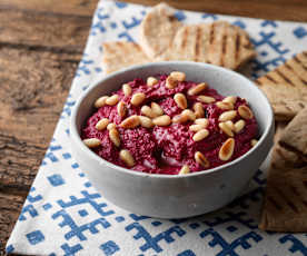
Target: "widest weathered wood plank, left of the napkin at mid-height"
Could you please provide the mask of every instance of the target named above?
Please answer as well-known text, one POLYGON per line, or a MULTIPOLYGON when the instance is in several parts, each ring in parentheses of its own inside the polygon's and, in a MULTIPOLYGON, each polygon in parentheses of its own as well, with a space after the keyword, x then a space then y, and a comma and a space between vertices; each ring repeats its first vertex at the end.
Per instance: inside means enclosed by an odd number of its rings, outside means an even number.
POLYGON ((80 56, 0 49, 2 187, 29 189, 61 112, 77 58, 80 56))

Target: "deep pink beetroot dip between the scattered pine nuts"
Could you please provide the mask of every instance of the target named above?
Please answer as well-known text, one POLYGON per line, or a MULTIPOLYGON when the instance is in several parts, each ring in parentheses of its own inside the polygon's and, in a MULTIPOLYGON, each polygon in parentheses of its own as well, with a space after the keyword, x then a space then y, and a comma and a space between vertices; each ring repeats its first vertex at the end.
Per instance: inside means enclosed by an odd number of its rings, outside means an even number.
MULTIPOLYGON (((126 117, 121 118, 118 115, 117 106, 103 106, 100 107, 90 118, 88 118, 82 129, 82 139, 97 138, 101 141, 99 147, 92 148, 92 150, 102 157, 103 159, 126 167, 125 163, 119 157, 120 149, 128 149, 132 155, 136 165, 131 169, 136 171, 149 173, 149 174, 167 174, 177 175, 184 165, 189 166, 189 173, 210 169, 228 161, 231 161, 251 148, 251 140, 258 135, 258 126, 255 117, 245 120, 245 127, 239 132, 234 132, 235 149, 229 160, 219 159, 219 150, 222 144, 229 138, 218 126, 219 116, 225 112, 216 106, 216 102, 221 101, 225 97, 219 95, 215 89, 207 87, 200 95, 214 97, 216 99, 212 104, 202 104, 205 110, 205 118, 209 120, 209 125, 206 128, 209 131, 208 137, 200 141, 192 139, 196 131, 189 130, 189 126, 194 125, 194 121, 187 121, 185 124, 170 124, 169 126, 154 126, 152 128, 145 128, 138 126, 132 129, 125 129, 119 124, 131 115, 141 115, 140 109, 143 105, 150 106, 150 102, 157 102, 164 109, 165 115, 174 118, 179 115, 180 109, 174 96, 177 92, 185 93, 188 108, 192 109, 197 100, 197 96, 189 96, 187 91, 197 86, 192 81, 178 82, 178 86, 174 89, 166 87, 167 75, 157 76, 159 80, 155 86, 147 86, 146 81, 141 79, 135 79, 128 82, 132 88, 130 96, 125 96, 122 89, 113 92, 119 96, 119 100, 127 105, 128 111, 126 117), (143 92, 146 100, 138 107, 130 104, 131 97, 136 92, 143 92), (101 118, 108 118, 110 122, 117 125, 117 130, 120 137, 120 147, 109 138, 109 130, 97 130, 96 124, 101 118), (200 151, 209 161, 209 166, 205 168, 195 160, 195 154, 200 151)), ((245 99, 237 97, 234 104, 234 110, 237 110, 239 106, 248 104, 245 99)), ((242 119, 240 115, 237 115, 232 122, 242 119)))

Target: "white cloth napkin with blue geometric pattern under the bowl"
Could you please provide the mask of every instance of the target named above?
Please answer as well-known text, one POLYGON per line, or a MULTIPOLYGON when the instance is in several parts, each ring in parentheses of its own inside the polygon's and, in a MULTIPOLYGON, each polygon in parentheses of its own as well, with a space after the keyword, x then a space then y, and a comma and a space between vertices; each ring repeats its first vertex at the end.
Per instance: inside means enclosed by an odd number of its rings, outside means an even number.
MULTIPOLYGON (((106 201, 71 158, 71 108, 103 76, 101 42, 137 40, 138 27, 148 10, 123 2, 99 2, 69 97, 7 252, 49 256, 307 255, 305 234, 274 234, 257 228, 266 183, 260 170, 249 191, 228 207, 197 218, 161 220, 127 213, 106 201)), ((185 23, 222 19, 246 29, 258 52, 254 78, 307 46, 306 23, 191 11, 178 11, 177 17, 185 23)))

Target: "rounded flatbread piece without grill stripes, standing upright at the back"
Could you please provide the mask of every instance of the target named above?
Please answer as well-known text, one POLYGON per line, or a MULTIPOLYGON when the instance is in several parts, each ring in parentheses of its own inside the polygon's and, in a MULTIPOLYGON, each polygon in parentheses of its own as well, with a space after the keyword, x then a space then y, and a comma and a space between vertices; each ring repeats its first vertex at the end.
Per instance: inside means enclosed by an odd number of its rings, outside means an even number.
POLYGON ((149 58, 162 55, 171 45, 182 23, 175 17, 175 9, 166 3, 154 7, 140 24, 139 43, 149 58))

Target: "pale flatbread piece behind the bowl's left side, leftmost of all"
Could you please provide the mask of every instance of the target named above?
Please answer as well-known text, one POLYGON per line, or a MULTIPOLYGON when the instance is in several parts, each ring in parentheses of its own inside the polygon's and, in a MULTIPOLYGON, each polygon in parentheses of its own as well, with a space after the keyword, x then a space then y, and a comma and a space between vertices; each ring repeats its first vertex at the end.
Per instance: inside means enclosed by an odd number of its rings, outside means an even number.
POLYGON ((143 53, 140 46, 135 42, 105 42, 102 48, 102 67, 106 73, 110 73, 132 65, 141 65, 152 61, 143 53))

